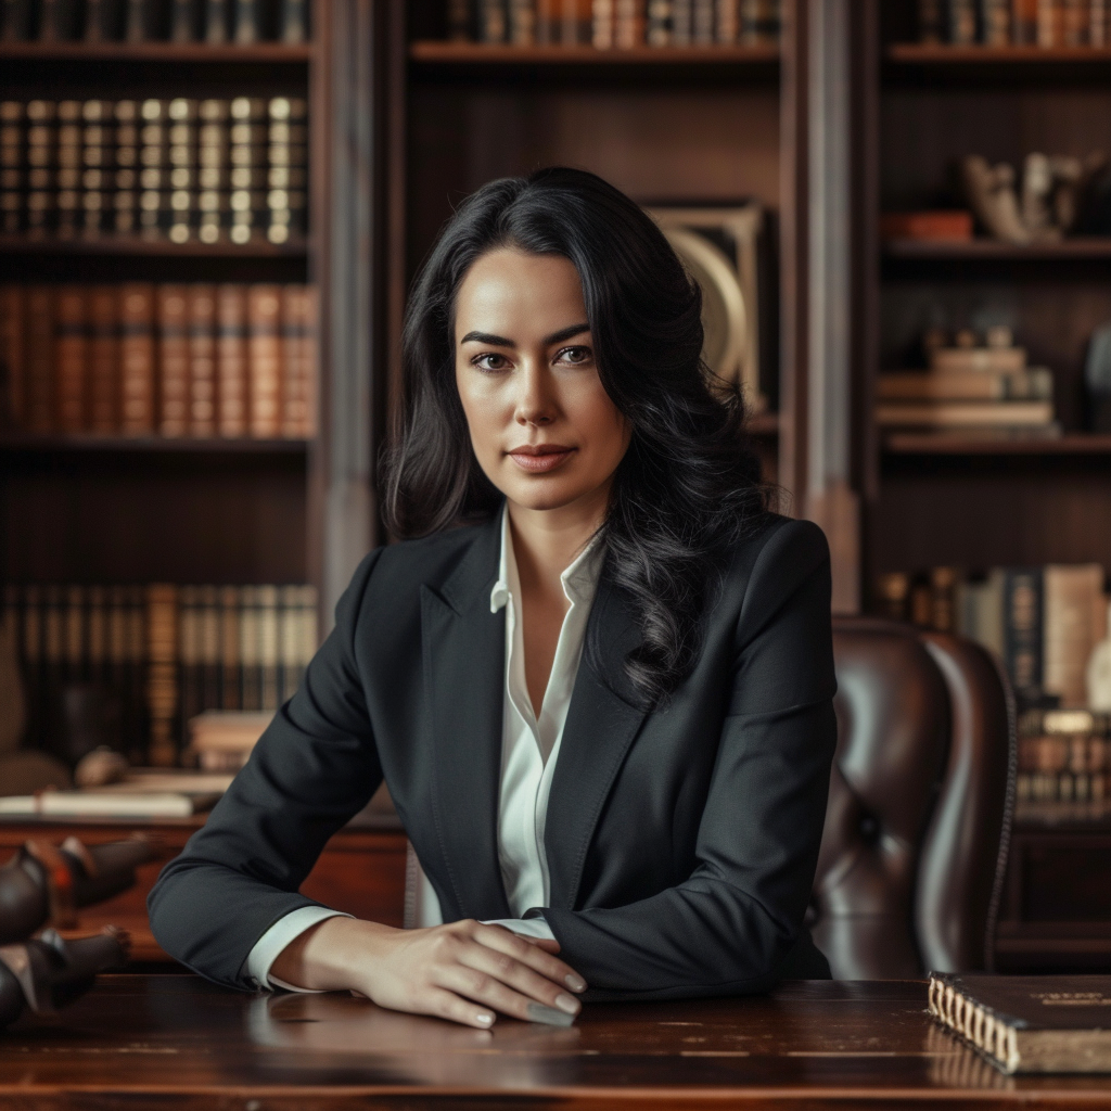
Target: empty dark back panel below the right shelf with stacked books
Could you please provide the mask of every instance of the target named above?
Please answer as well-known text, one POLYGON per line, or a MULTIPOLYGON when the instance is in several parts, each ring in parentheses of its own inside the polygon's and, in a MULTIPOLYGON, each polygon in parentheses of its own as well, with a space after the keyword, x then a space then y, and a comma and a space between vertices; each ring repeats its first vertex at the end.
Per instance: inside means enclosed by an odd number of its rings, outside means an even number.
POLYGON ((888 457, 872 517, 877 571, 940 564, 1111 568, 1111 460, 888 457))

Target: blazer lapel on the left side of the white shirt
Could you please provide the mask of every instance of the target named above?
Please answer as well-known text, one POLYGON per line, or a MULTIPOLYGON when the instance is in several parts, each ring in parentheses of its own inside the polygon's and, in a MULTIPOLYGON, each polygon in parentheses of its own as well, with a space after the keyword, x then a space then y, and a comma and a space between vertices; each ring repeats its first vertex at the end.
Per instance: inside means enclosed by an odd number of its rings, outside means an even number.
POLYGON ((421 588, 433 815, 458 910, 480 919, 511 917, 498 861, 506 674, 504 613, 490 612, 498 520, 439 591, 421 588))

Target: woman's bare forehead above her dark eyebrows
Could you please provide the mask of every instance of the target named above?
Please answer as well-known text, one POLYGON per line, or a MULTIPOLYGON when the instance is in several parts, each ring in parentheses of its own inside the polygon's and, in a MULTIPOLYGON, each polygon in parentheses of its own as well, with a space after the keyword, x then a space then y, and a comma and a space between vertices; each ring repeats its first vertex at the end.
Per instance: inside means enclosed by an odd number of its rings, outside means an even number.
POLYGON ((480 256, 456 298, 456 334, 547 336, 587 319, 579 272, 560 254, 499 248, 480 256))

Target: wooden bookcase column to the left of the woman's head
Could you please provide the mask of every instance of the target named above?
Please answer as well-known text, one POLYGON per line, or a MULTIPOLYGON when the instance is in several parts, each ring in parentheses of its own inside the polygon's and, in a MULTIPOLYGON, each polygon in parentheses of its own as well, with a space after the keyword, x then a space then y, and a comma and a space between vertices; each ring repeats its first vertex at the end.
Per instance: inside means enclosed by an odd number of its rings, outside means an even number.
POLYGON ((313 230, 321 289, 321 437, 314 451, 310 551, 321 619, 381 540, 374 471, 384 429, 387 253, 386 56, 400 6, 321 0, 313 74, 313 230))

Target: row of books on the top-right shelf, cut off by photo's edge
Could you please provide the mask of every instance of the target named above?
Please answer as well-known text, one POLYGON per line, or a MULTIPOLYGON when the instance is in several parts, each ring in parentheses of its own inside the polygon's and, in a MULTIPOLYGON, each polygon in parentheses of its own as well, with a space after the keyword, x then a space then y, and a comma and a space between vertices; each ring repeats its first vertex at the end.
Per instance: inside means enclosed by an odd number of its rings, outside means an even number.
POLYGON ((1107 47, 1108 0, 919 0, 920 42, 1107 47))

